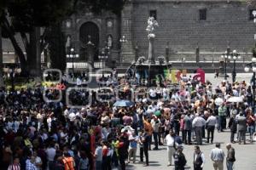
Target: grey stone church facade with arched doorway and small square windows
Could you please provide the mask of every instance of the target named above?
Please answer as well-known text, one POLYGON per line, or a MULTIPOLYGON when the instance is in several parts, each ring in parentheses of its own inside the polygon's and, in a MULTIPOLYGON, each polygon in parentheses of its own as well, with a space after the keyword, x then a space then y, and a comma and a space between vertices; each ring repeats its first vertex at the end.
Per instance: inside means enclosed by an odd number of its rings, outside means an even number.
POLYGON ((170 61, 181 56, 191 61, 199 47, 200 60, 212 60, 213 53, 218 60, 227 46, 249 56, 256 33, 253 9, 242 0, 130 0, 120 16, 80 11, 63 23, 63 31, 69 37, 67 48, 72 46, 80 54, 78 61, 88 60, 90 39, 95 44, 95 61, 108 44, 108 64, 131 63, 136 54, 148 57, 145 29, 151 15, 160 25, 154 42, 156 57, 165 56, 167 48, 170 61), (120 42, 123 36, 126 41, 120 42))

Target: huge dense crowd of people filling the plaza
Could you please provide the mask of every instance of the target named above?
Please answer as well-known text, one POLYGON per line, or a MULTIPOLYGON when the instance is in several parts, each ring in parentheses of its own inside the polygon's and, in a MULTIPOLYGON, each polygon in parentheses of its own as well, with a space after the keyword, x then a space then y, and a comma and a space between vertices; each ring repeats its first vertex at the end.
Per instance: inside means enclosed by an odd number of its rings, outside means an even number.
MULTIPOLYGON (((112 77, 117 79, 117 75, 112 77)), ((224 81, 213 87, 211 82, 182 77, 177 88, 161 84, 138 89, 121 77, 119 86, 112 81, 106 84, 113 89, 111 98, 101 94, 99 99, 99 91, 95 91, 90 105, 90 93, 74 89, 69 100, 72 105, 86 105, 81 108, 68 106, 65 98, 53 101, 60 94, 52 89, 46 93, 52 100, 46 102, 44 87, 12 92, 1 88, 1 169, 124 170, 137 161, 137 150, 139 161, 150 166, 148 150, 159 150, 163 144, 167 165, 177 170, 187 164, 183 145, 195 144, 193 166, 202 169, 206 158, 200 145, 213 143, 215 129, 221 133, 230 128, 226 157, 230 170, 236 161, 231 144, 246 144, 247 132, 253 142, 254 101, 252 87, 246 82, 224 81), (235 97, 241 101, 229 102, 235 97), (130 99, 133 105, 114 106, 117 99, 130 99)), ((212 150, 211 159, 214 169, 223 169, 224 151, 219 144, 212 150)))

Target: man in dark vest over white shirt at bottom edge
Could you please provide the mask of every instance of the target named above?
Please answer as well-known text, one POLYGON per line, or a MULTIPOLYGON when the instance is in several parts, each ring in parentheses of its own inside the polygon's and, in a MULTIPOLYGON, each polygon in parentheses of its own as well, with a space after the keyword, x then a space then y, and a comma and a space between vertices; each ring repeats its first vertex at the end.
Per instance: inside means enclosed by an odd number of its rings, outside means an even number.
POLYGON ((206 162, 204 154, 201 152, 198 145, 195 146, 194 152, 194 170, 202 170, 206 162))

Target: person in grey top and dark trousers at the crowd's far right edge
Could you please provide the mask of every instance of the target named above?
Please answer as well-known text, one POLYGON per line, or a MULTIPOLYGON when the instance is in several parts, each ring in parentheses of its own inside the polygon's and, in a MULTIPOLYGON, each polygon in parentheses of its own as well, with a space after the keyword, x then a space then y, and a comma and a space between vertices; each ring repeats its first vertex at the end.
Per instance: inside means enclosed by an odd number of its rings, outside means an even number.
POLYGON ((243 140, 243 144, 246 144, 247 118, 243 116, 242 112, 240 112, 236 122, 238 124, 237 130, 239 144, 241 144, 241 139, 243 140))

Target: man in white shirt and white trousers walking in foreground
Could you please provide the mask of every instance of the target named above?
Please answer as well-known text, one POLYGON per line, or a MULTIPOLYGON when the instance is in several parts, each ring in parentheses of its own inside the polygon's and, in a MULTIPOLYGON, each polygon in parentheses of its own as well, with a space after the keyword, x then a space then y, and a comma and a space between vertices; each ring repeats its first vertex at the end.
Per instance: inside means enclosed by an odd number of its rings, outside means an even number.
POLYGON ((175 133, 173 133, 172 130, 169 132, 169 134, 166 135, 166 145, 169 161, 169 164, 167 166, 172 166, 172 156, 175 153, 175 148, 177 146, 174 137, 175 133))

